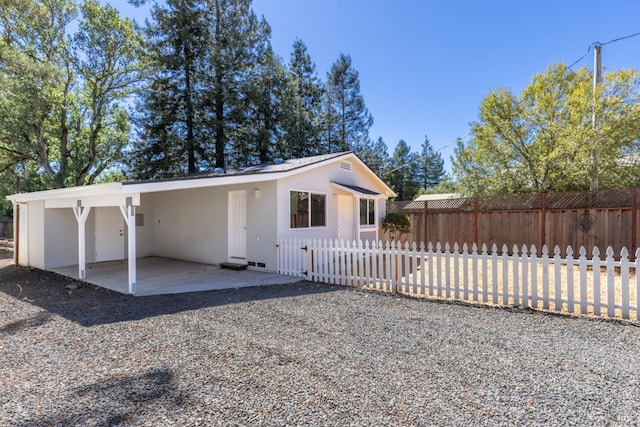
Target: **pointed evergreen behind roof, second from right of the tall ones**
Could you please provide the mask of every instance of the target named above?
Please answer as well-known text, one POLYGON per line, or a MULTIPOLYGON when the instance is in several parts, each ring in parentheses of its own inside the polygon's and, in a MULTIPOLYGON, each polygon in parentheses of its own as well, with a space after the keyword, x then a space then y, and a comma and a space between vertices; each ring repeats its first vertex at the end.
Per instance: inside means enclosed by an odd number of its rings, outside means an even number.
POLYGON ((283 94, 282 141, 279 155, 300 158, 321 153, 320 116, 324 88, 307 46, 296 40, 283 94))

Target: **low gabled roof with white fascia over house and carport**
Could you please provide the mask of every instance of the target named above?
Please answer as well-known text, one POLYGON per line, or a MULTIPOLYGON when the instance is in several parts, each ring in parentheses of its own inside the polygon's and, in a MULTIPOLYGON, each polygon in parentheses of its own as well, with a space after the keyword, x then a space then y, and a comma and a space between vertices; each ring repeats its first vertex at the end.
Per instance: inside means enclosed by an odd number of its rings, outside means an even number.
MULTIPOLYGON (((156 179, 148 181, 114 182, 108 184, 94 184, 81 187, 61 188, 56 190, 37 191, 33 193, 12 194, 7 198, 13 202, 27 202, 31 200, 71 199, 87 196, 126 196, 156 191, 180 190, 231 184, 246 184, 251 182, 270 181, 286 178, 302 171, 312 170, 338 159, 354 160, 365 168, 378 186, 383 188, 382 194, 393 197, 395 193, 382 181, 360 158, 352 151, 323 154, 300 159, 283 160, 247 166, 237 169, 219 170, 213 172, 187 175, 183 177, 156 179)), ((365 193, 366 194, 366 193, 365 193)))

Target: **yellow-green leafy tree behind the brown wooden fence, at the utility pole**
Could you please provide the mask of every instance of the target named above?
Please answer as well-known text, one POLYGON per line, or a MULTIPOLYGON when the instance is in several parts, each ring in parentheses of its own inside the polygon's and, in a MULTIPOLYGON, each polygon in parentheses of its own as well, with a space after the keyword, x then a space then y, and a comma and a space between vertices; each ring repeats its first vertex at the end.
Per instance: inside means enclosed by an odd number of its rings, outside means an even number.
POLYGON ((620 186, 621 176, 637 185, 633 162, 621 159, 638 152, 639 82, 636 70, 616 71, 594 93, 588 69, 559 64, 534 76, 520 96, 491 92, 471 140, 457 142, 453 169, 461 186, 472 195, 587 190, 594 176, 601 188, 620 186))

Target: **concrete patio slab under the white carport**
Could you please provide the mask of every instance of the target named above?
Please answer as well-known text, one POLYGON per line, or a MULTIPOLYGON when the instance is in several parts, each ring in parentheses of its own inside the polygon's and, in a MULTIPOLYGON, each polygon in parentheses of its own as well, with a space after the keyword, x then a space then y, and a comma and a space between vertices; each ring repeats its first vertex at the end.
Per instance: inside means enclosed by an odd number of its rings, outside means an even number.
MULTIPOLYGON (((78 266, 55 268, 52 271, 78 279, 78 266)), ((87 264, 85 282, 129 293, 127 262, 107 261, 87 264)), ((249 286, 295 283, 299 277, 284 276, 255 270, 234 271, 217 265, 199 264, 162 257, 137 260, 136 296, 178 294, 249 286)))

